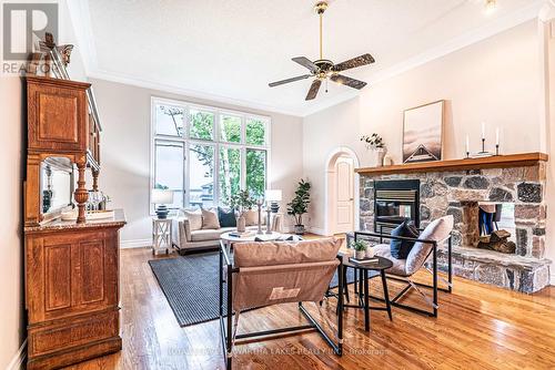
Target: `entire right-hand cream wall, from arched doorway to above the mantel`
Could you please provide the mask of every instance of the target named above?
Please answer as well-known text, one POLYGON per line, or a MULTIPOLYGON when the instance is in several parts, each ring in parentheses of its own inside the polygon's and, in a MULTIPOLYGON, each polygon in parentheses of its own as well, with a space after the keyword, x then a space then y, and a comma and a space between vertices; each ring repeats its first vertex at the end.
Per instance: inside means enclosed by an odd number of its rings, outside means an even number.
MULTIPOLYGON (((447 100, 444 158, 480 145, 481 122, 487 123, 493 145, 502 129, 503 153, 538 151, 539 61, 537 22, 529 21, 394 78, 370 83, 360 97, 304 119, 305 175, 313 183, 311 228, 324 228, 324 167, 326 154, 350 146, 364 164, 361 134, 383 136, 395 163, 402 158, 403 111, 447 100)), ((490 146, 490 150, 492 147, 490 146)))

